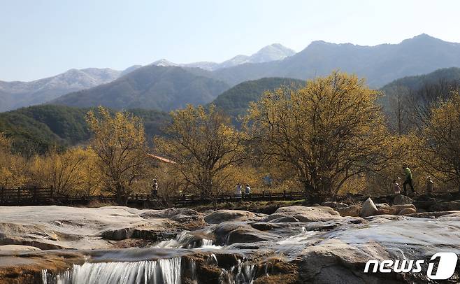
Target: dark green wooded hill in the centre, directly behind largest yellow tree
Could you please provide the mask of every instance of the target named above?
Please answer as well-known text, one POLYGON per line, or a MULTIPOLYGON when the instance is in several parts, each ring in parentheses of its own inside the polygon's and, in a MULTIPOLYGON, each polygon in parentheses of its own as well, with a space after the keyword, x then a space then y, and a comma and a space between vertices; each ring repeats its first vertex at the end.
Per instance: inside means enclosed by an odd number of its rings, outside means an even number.
POLYGON ((282 85, 299 87, 305 81, 292 78, 262 78, 240 83, 220 94, 213 104, 233 118, 246 113, 251 101, 258 101, 266 90, 275 90, 282 85))

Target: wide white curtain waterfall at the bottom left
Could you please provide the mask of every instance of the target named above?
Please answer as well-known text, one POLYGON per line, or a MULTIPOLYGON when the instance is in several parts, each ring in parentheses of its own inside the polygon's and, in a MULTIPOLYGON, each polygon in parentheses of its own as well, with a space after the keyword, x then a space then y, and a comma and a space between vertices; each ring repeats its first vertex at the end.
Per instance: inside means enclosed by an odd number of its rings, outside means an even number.
POLYGON ((52 276, 42 271, 43 284, 180 284, 180 257, 141 262, 86 262, 52 276))

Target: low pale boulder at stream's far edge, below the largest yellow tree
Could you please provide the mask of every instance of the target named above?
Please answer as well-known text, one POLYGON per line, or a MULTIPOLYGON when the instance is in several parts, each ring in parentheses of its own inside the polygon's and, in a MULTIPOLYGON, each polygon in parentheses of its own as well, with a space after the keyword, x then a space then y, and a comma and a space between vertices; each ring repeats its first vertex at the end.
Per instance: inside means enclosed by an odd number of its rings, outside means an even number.
MULTIPOLYGON (((326 206, 286 206, 268 215, 263 222, 282 222, 282 220, 299 220, 299 222, 329 221, 342 218, 337 211, 326 206)), ((294 221, 295 222, 295 221, 294 221)))

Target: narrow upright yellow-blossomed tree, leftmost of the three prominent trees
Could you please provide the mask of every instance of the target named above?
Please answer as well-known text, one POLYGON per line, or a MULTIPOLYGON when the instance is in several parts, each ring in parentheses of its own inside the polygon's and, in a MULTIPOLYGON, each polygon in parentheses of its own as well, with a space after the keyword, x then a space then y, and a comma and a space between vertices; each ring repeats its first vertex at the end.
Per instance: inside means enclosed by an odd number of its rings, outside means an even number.
POLYGON ((89 111, 87 123, 93 132, 89 144, 97 155, 103 186, 116 195, 119 204, 126 204, 146 170, 143 123, 128 113, 110 115, 103 107, 97 113, 89 111))

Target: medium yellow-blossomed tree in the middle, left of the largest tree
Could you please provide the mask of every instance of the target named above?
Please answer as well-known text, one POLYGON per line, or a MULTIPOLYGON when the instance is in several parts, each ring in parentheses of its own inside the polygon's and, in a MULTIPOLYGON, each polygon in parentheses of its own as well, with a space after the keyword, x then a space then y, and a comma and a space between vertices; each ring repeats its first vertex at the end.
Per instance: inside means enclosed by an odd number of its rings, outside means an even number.
POLYGON ((230 118, 217 111, 187 106, 171 113, 166 137, 156 137, 154 145, 161 155, 175 162, 180 176, 203 196, 215 199, 232 183, 232 166, 246 159, 244 134, 230 118))

